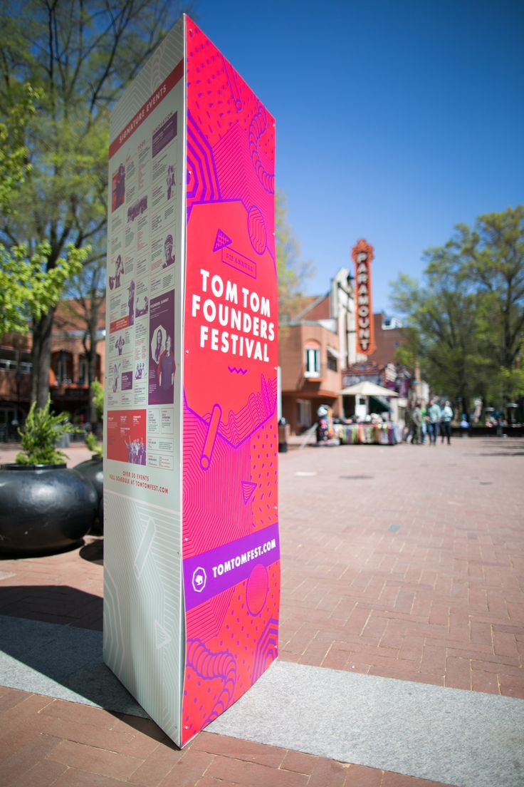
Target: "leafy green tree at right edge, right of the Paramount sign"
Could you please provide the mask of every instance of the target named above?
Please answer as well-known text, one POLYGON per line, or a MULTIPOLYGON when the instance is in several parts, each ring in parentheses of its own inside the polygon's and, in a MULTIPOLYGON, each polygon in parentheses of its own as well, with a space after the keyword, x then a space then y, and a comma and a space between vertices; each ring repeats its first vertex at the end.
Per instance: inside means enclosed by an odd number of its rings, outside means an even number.
POLYGON ((424 253, 422 283, 401 274, 392 302, 405 316, 403 353, 420 360, 435 391, 467 408, 481 396, 501 406, 524 393, 524 208, 480 216, 445 246, 424 253))

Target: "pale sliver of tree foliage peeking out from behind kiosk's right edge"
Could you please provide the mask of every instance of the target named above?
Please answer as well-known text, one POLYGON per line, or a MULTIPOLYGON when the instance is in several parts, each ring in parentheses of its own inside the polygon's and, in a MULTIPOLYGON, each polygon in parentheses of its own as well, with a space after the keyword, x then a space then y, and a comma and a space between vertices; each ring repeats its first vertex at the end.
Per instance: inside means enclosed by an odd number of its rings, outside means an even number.
POLYGON ((313 273, 313 265, 301 258, 299 242, 288 224, 286 199, 281 192, 275 196, 275 245, 279 320, 285 324, 299 310, 304 284, 313 273))

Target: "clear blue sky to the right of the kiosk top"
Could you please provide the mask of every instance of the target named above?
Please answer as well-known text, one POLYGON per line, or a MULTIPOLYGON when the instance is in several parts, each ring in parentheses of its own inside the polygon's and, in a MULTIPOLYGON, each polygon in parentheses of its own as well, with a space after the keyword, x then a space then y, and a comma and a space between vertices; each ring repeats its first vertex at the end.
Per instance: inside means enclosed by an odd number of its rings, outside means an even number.
POLYGON ((453 227, 524 202, 524 2, 195 0, 277 120, 277 188, 327 291, 359 238, 373 308, 453 227))

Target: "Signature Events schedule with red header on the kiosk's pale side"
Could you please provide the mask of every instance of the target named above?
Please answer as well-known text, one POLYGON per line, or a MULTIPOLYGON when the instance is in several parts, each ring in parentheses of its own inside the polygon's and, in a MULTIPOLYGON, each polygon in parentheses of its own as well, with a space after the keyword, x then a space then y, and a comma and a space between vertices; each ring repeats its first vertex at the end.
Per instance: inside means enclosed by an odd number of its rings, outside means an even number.
POLYGON ((181 135, 172 91, 180 76, 175 68, 110 147, 108 458, 167 470, 174 462, 181 262, 181 135))

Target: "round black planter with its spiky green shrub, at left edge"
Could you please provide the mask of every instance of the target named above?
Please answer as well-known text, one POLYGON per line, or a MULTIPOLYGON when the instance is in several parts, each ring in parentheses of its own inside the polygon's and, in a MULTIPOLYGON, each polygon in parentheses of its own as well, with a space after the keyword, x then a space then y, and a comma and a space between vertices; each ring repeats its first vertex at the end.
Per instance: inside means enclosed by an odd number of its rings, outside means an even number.
POLYGON ((57 442, 77 427, 34 403, 19 430, 21 452, 0 469, 0 553, 37 555, 79 544, 93 524, 97 493, 66 466, 57 442))

